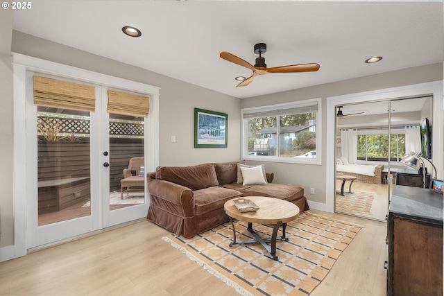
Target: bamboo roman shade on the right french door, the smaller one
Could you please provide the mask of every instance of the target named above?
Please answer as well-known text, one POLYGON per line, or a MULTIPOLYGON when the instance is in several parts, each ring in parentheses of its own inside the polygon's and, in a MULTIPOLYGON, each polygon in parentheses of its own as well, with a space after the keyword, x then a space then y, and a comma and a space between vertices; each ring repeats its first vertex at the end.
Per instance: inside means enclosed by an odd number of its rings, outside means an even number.
POLYGON ((108 90, 108 113, 147 117, 149 111, 148 96, 108 90))

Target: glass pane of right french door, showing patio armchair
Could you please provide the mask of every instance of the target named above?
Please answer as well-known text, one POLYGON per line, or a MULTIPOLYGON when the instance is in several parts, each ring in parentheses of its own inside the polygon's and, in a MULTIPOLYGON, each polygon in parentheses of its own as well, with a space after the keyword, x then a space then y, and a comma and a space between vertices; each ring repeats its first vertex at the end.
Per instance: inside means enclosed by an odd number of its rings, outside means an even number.
POLYGON ((145 203, 144 118, 109 114, 110 211, 145 203))

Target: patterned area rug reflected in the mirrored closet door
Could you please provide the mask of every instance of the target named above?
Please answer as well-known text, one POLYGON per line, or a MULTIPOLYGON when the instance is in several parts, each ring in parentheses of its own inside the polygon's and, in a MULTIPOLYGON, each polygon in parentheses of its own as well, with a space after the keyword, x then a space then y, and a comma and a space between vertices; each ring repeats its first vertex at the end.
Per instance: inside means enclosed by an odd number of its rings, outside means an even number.
POLYGON ((370 214, 375 193, 355 191, 344 193, 345 196, 336 195, 336 210, 358 214, 370 214))

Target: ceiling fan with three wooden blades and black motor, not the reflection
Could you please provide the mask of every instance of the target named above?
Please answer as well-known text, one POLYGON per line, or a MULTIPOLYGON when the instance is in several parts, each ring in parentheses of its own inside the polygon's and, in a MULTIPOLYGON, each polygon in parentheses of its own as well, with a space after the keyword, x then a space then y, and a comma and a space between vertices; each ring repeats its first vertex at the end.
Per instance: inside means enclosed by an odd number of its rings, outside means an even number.
POLYGON ((245 87, 249 85, 255 78, 259 75, 264 75, 266 73, 293 73, 293 72, 311 72, 318 71, 319 64, 309 63, 309 64, 290 64, 287 66, 280 67, 271 67, 267 68, 265 64, 265 58, 262 58, 262 53, 266 52, 266 44, 258 43, 255 44, 255 53, 259 54, 259 58, 256 58, 256 64, 253 66, 246 60, 242 60, 241 58, 233 55, 232 53, 228 53, 227 51, 222 51, 220 56, 223 60, 228 60, 228 62, 234 62, 234 64, 239 64, 242 67, 246 67, 248 69, 253 70, 253 75, 243 80, 236 87, 245 87))

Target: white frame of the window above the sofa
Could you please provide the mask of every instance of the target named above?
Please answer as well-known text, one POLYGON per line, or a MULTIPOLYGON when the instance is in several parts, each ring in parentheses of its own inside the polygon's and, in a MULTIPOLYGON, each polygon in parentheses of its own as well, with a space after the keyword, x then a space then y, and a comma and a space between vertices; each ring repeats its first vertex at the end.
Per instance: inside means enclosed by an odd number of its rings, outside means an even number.
MULTIPOLYGON (((274 115, 273 115, 274 116, 274 115)), ((274 105, 264 105, 260 107, 249 107, 241 109, 241 158, 245 160, 260 161, 260 162, 284 162, 291 164, 314 164, 322 165, 322 99, 312 98, 302 101, 294 101, 291 103, 282 103, 274 105), (318 105, 316 114, 316 158, 304 157, 280 157, 279 155, 248 155, 248 119, 244 119, 244 114, 253 112, 275 112, 276 110, 285 110, 298 107, 308 107, 311 105, 318 105)), ((277 133, 280 133, 280 126, 277 127, 277 133)), ((276 151, 279 153, 279 141, 277 141, 276 151)))

